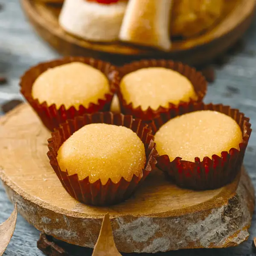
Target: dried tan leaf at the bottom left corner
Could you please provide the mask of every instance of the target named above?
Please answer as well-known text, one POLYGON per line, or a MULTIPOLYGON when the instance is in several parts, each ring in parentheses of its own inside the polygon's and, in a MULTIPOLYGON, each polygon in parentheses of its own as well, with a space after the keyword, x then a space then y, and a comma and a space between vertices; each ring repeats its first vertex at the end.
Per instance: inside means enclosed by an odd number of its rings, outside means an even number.
POLYGON ((13 210, 10 218, 0 225, 0 256, 3 255, 7 245, 11 241, 12 235, 15 230, 16 221, 17 221, 17 203, 15 204, 15 209, 13 210))

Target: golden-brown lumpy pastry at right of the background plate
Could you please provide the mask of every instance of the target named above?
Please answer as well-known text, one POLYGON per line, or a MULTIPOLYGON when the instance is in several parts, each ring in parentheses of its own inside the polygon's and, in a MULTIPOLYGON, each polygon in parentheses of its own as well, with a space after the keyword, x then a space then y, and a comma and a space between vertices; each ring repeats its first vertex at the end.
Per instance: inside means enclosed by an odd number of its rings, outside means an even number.
POLYGON ((209 29, 222 9, 223 0, 174 0, 171 35, 191 37, 209 29))

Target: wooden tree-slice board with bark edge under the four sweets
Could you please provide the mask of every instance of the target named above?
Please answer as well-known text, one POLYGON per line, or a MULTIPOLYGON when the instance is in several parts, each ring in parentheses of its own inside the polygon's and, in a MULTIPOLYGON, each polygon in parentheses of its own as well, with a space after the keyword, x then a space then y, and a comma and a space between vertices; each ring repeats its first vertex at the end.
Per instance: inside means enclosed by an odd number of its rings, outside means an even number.
POLYGON ((81 204, 65 191, 47 158, 50 132, 27 104, 0 119, 0 177, 12 203, 38 230, 93 247, 105 213, 121 252, 234 246, 249 236, 254 190, 242 168, 233 183, 212 191, 180 189, 159 170, 127 201, 81 204))

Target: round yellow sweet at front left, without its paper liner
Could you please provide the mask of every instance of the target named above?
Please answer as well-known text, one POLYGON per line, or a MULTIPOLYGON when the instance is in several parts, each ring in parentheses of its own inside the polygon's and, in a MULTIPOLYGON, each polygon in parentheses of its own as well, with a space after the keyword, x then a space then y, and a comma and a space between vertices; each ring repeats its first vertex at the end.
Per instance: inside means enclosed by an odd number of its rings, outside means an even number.
POLYGON ((121 177, 131 181, 142 177, 145 166, 143 142, 131 129, 108 124, 85 125, 59 148, 57 156, 61 171, 76 174, 79 180, 89 176, 90 183, 110 178, 118 183, 121 177))

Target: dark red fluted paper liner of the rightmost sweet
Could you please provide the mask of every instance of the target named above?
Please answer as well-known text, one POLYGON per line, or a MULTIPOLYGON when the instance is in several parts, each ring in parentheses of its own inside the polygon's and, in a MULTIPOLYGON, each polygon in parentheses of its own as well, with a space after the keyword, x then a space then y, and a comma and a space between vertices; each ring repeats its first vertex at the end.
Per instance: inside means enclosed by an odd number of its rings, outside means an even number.
MULTIPOLYGON (((157 167, 171 177, 174 182, 184 188, 203 190, 216 189, 230 183, 241 170, 244 159, 244 153, 251 134, 250 119, 244 116, 244 113, 230 106, 222 104, 213 105, 204 103, 189 104, 187 108, 179 107, 175 115, 189 113, 199 110, 218 111, 232 117, 241 128, 243 141, 239 144, 239 150, 230 148, 230 151, 222 151, 221 157, 212 155, 211 158, 204 157, 200 160, 195 157, 195 162, 182 160, 176 157, 170 162, 167 155, 157 158, 157 167)), ((161 113, 159 117, 149 124, 155 133, 164 123, 173 117, 172 111, 161 113)), ((216 141, 218 143, 218 141, 216 141)))

